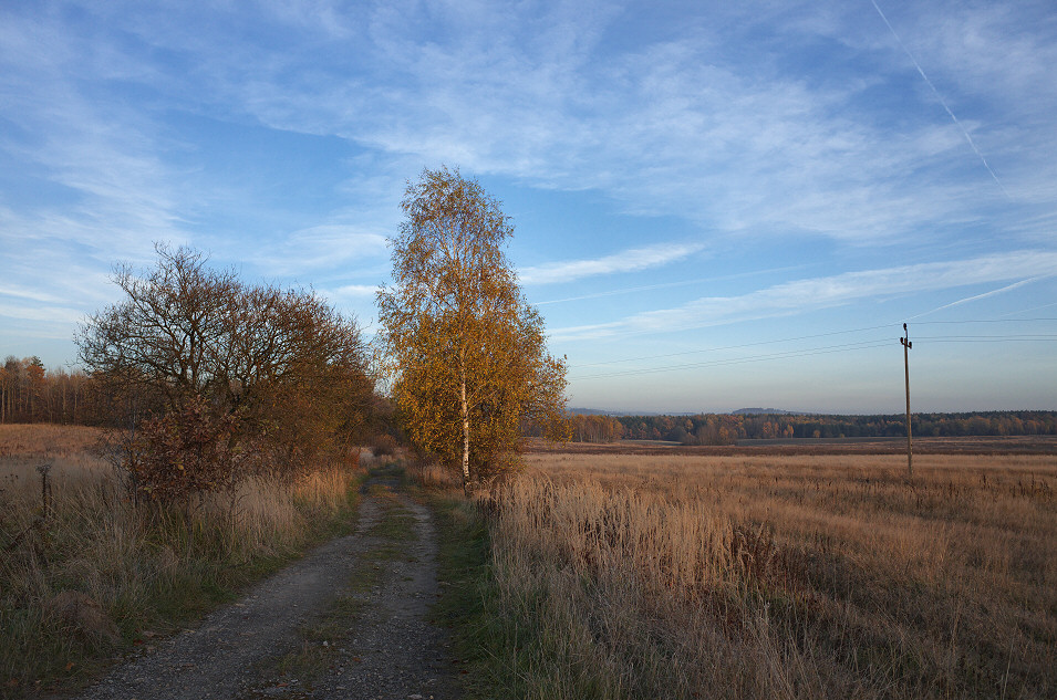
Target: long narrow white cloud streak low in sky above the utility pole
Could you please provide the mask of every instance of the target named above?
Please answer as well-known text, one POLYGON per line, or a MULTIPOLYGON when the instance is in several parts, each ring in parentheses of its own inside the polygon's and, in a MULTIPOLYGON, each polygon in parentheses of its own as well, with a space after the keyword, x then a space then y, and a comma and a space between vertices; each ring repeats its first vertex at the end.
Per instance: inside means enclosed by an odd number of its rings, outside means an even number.
MULTIPOLYGON (((638 313, 610 323, 556 328, 558 342, 641 333, 669 333, 839 306, 901 293, 1057 275, 1057 252, 1016 251, 970 260, 931 262, 795 280, 739 296, 703 296, 673 309, 638 313)), ((1019 284, 1018 284, 1019 285, 1019 284)), ((986 297, 989 294, 980 295, 986 297)))

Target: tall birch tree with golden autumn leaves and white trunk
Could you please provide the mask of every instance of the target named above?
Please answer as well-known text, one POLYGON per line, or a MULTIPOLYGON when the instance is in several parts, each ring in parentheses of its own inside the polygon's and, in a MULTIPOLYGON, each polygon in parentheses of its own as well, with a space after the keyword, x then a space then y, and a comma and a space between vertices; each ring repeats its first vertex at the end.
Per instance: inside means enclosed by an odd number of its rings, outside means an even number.
POLYGON ((390 242, 393 283, 377 293, 397 414, 419 449, 466 488, 509 468, 521 425, 561 425, 566 363, 506 257, 514 226, 474 180, 424 170, 390 242))

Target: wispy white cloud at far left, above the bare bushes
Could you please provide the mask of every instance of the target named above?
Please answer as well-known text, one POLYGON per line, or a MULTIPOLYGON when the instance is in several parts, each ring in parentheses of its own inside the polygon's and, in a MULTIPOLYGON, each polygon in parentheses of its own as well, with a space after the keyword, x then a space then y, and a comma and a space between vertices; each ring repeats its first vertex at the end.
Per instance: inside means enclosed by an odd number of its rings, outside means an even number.
MULTIPOLYGON (((0 100, 17 126, 0 140, 30 181, 63 194, 24 213, 20 236, 90 250, 149 249, 179 240, 186 211, 163 163, 156 124, 125 101, 93 92, 100 81, 157 77, 113 44, 76 35, 55 17, 11 13, 0 25, 0 100), (9 43, 10 40, 10 43, 9 43)), ((13 202, 23 212, 28 202, 13 202)), ((110 257, 110 255, 106 255, 110 257)))

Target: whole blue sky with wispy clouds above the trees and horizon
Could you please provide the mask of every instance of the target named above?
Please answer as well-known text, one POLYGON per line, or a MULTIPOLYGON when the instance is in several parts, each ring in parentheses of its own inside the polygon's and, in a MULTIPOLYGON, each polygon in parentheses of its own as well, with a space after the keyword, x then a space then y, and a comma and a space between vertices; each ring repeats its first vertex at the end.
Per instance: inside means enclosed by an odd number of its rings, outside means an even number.
POLYGON ((573 406, 1057 408, 1048 2, 8 2, 0 355, 189 244, 370 333, 423 168, 502 200, 573 406))

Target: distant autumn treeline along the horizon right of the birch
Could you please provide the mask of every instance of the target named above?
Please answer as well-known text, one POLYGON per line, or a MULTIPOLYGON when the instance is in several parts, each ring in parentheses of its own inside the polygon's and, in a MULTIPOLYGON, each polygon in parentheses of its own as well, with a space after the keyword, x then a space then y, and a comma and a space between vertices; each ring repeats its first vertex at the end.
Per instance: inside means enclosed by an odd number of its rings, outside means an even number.
MULTIPOLYGON (((733 445, 776 438, 894 438, 906 435, 905 417, 820 415, 570 416, 572 440, 670 440, 683 445, 733 445)), ((921 437, 1057 435, 1057 411, 1015 410, 914 414, 921 437)))

